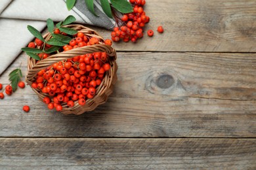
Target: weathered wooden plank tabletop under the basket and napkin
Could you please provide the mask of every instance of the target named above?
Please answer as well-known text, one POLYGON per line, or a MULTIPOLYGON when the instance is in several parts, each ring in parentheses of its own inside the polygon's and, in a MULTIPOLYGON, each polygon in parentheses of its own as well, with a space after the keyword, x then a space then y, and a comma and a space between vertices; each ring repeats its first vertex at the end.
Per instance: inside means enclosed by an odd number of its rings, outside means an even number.
POLYGON ((118 81, 94 111, 48 110, 29 86, 0 101, 1 169, 256 169, 256 1, 148 0, 146 14, 154 37, 114 43, 118 81))

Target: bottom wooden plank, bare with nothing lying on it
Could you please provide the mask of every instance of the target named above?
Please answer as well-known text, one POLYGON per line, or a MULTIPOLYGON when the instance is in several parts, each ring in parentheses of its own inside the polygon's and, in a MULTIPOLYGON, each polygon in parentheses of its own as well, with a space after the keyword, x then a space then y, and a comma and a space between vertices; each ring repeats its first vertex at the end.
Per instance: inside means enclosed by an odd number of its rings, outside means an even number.
POLYGON ((0 167, 255 169, 255 139, 0 139, 0 167))

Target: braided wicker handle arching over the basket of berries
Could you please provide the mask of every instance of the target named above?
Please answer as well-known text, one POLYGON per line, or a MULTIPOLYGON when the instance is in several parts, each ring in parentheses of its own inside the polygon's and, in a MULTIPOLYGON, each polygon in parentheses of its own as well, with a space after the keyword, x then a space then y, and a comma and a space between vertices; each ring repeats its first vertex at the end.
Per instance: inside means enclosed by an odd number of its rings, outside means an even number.
POLYGON ((112 46, 106 44, 95 44, 93 46, 82 46, 80 48, 74 48, 66 52, 60 52, 58 54, 49 56, 48 58, 43 59, 37 63, 35 63, 35 59, 33 59, 34 62, 31 62, 30 59, 32 58, 29 57, 26 82, 28 82, 28 84, 32 84, 35 80, 35 76, 37 75, 37 73, 41 71, 41 69, 45 69, 50 65, 53 65, 53 63, 63 61, 64 59, 74 58, 75 56, 80 56, 83 54, 91 54, 94 52, 106 52, 108 56, 116 59, 116 50, 112 46))

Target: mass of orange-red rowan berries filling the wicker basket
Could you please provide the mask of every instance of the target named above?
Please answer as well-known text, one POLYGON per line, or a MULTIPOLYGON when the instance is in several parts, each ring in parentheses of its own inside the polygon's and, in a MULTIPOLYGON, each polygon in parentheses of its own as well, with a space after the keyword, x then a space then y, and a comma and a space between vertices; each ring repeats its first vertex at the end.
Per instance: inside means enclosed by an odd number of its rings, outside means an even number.
MULTIPOLYGON (((81 32, 74 37, 69 44, 62 47, 63 51, 99 44, 96 37, 89 38, 81 32)), ((104 44, 111 45, 112 41, 107 39, 104 44)), ((48 105, 49 109, 55 108, 60 111, 62 103, 67 103, 68 107, 74 107, 75 102, 85 105, 87 99, 94 97, 96 88, 110 67, 106 52, 75 56, 39 71, 35 82, 32 83, 32 88, 47 94, 43 102, 48 105)))

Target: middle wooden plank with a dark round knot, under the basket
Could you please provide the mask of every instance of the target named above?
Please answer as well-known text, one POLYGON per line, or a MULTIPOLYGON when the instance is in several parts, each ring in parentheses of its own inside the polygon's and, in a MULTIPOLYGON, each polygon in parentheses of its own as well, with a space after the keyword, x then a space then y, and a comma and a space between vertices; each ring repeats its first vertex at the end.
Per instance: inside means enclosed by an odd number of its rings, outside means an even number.
MULTIPOLYGON (((22 54, 0 82, 20 62, 25 74, 22 54)), ((256 137, 255 63, 256 54, 119 52, 107 103, 64 116, 18 89, 0 102, 0 136, 256 137)))

